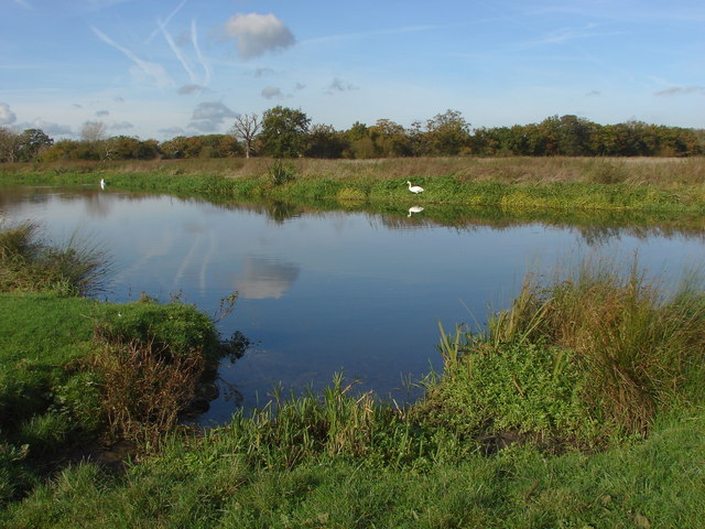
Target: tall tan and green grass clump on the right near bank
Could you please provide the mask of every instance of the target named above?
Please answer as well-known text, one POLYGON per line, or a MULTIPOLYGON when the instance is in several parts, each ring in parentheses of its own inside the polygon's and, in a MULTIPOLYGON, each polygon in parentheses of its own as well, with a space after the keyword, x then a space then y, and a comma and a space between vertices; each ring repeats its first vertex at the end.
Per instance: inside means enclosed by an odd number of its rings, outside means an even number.
POLYGON ((657 411, 702 364, 705 295, 693 280, 668 295, 634 261, 629 272, 586 260, 551 284, 529 276, 484 342, 545 344, 570 352, 584 373, 582 399, 593 417, 628 433, 648 432, 657 411))

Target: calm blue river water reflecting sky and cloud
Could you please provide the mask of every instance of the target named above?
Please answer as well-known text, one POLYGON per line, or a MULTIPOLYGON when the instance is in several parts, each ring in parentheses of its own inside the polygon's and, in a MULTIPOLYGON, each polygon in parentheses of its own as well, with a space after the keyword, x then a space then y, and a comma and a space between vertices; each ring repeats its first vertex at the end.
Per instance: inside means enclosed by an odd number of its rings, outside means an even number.
POLYGON ((6 219, 40 222, 59 241, 77 234, 102 244, 117 269, 101 294, 109 301, 178 295, 216 314, 221 299, 239 293, 219 331, 240 331, 253 347, 224 361, 221 397, 204 421, 263 403, 278 381, 319 388, 340 370, 361 390, 403 401, 404 379, 440 368, 437 322, 481 325, 529 269, 570 267, 595 252, 629 264, 637 252, 668 278, 705 259, 698 229, 509 222, 497 212, 447 226, 433 220, 432 206, 409 210, 413 203, 380 215, 93 187, 0 196, 6 219))

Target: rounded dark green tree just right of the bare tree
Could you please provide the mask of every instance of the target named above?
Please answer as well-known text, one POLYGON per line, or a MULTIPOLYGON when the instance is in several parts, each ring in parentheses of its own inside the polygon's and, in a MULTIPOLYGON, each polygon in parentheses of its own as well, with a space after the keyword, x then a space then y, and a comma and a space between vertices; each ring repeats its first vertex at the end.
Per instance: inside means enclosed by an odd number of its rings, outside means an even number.
POLYGON ((274 158, 297 158, 306 148, 311 119, 301 110, 276 106, 262 116, 260 139, 264 151, 274 158))

